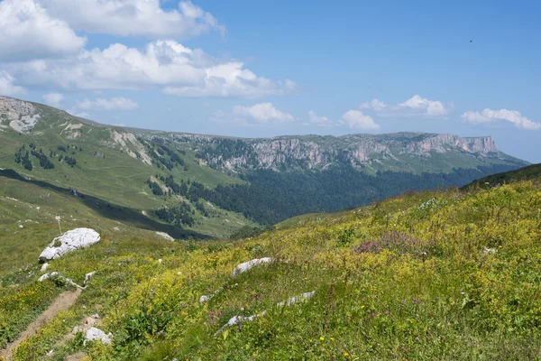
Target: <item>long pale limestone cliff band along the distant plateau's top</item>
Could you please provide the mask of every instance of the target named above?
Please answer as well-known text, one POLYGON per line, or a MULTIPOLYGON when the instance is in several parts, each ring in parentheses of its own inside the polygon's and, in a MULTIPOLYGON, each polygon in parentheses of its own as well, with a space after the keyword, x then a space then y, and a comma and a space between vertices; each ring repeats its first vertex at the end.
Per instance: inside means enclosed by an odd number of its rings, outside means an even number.
MULTIPOLYGON (((408 162, 435 154, 460 153, 498 158, 492 138, 461 138, 453 134, 354 134, 286 136, 271 139, 229 139, 209 136, 177 136, 178 142, 197 141, 197 156, 213 168, 318 169, 332 163, 371 168, 371 164, 408 162)), ((394 166, 396 168, 396 166, 394 166)), ((460 164, 456 164, 460 167, 460 164)), ((378 166, 378 168, 380 168, 378 166)))

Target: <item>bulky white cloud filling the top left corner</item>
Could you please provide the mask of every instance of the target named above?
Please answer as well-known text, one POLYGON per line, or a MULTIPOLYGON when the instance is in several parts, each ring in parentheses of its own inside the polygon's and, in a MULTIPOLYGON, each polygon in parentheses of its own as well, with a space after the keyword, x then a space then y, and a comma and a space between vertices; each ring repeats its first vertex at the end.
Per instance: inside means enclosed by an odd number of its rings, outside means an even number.
POLYGON ((34 0, 0 2, 0 33, 0 60, 62 57, 87 42, 34 0))

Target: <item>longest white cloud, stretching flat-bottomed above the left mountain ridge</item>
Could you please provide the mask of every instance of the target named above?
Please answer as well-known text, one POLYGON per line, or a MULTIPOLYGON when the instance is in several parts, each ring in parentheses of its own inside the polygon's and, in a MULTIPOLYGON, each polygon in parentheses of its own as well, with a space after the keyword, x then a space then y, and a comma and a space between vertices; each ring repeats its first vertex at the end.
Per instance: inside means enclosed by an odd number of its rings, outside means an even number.
POLYGON ((9 64, 23 84, 51 84, 86 90, 160 87, 180 97, 265 97, 295 88, 289 79, 272 81, 245 69, 238 60, 220 60, 179 42, 156 41, 144 51, 115 43, 105 50, 81 51, 64 60, 9 64))

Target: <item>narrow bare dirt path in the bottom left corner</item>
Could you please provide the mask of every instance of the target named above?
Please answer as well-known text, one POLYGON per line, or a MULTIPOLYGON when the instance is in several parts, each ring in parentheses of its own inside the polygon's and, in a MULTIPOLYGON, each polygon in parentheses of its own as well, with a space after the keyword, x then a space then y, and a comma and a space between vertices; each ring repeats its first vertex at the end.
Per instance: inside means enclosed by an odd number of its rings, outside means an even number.
POLYGON ((12 356, 14 349, 17 348, 21 342, 35 333, 36 330, 40 329, 43 325, 45 325, 45 323, 50 321, 50 319, 52 319, 57 313, 62 310, 67 310, 69 306, 77 301, 79 294, 81 294, 80 289, 60 293, 60 296, 50 304, 49 309, 44 310, 35 321, 28 325, 19 338, 8 344, 5 349, 0 349, 0 357, 4 357, 6 360, 8 360, 12 356))

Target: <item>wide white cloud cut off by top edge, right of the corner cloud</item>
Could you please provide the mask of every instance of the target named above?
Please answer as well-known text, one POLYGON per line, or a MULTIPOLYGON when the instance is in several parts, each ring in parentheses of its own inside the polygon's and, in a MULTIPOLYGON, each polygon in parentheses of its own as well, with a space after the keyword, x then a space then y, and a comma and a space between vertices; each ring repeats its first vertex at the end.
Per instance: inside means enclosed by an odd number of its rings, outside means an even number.
MULTIPOLYGON (((19 0, 16 0, 19 1, 19 0)), ((225 32, 212 14, 189 1, 164 10, 160 0, 34 0, 73 28, 118 36, 187 37, 225 32)))

